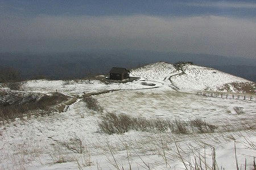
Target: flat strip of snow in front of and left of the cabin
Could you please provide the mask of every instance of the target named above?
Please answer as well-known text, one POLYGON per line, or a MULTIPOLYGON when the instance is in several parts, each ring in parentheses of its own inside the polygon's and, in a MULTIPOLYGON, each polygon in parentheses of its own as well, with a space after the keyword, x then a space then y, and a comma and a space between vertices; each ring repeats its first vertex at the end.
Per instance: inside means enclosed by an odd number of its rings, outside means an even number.
MULTIPOLYGON (((151 88, 150 86, 143 85, 144 81, 133 81, 133 82, 113 82, 111 84, 105 84, 98 80, 31 80, 23 84, 24 91, 32 91, 38 93, 51 93, 60 92, 71 95, 82 95, 83 92, 101 92, 104 90, 134 90, 142 88, 151 88)), ((148 83, 154 83, 156 87, 162 85, 159 82, 147 81, 148 83)))

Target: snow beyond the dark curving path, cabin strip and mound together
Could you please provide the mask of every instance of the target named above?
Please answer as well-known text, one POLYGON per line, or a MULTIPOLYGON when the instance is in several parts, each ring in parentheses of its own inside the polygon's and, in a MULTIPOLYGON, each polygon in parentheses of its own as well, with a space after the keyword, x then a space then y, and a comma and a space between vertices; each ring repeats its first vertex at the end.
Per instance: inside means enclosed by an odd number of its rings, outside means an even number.
POLYGON ((159 62, 133 69, 130 76, 139 80, 119 83, 105 83, 99 80, 32 80, 23 83, 24 91, 38 93, 61 92, 71 95, 81 95, 83 92, 100 92, 103 90, 135 90, 144 88, 161 88, 178 92, 229 92, 246 93, 236 84, 244 83, 252 89, 247 92, 255 93, 254 82, 216 71, 212 68, 185 64, 183 69, 177 70, 173 64, 159 62), (151 84, 153 86, 148 86, 151 84))

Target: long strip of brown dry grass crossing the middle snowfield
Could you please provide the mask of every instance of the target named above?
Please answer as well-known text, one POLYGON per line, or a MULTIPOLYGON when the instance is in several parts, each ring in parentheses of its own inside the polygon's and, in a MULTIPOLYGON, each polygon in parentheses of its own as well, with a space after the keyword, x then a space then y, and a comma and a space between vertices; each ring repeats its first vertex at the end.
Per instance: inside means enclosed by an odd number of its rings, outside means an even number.
POLYGON ((171 131, 175 134, 191 133, 188 129, 197 129, 197 132, 213 132, 216 126, 205 123, 197 118, 193 121, 170 121, 164 119, 146 119, 131 117, 126 114, 116 115, 114 113, 106 113, 102 116, 102 121, 98 124, 100 129, 106 134, 122 134, 130 130, 137 131, 155 131, 167 132, 171 131))

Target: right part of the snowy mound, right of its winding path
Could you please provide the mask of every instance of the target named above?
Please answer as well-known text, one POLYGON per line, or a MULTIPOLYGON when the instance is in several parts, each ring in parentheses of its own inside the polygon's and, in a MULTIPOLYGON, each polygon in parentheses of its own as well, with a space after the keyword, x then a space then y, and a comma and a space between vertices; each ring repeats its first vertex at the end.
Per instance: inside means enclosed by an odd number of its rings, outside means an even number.
POLYGON ((183 65, 183 74, 172 77, 172 82, 182 91, 206 90, 219 92, 255 93, 254 82, 216 69, 197 65, 183 65))

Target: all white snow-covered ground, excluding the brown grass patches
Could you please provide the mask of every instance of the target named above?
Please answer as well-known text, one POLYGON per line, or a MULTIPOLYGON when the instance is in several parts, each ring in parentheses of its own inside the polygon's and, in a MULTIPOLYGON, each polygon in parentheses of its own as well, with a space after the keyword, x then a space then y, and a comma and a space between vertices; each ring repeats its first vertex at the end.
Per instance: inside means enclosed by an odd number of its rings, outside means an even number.
POLYGON ((183 162, 188 166, 196 159, 199 164, 199 159, 205 157, 201 160, 204 168, 204 161, 212 167, 213 151, 218 169, 236 169, 234 143, 238 166, 245 167, 246 158, 247 168, 253 169, 255 94, 246 94, 253 96, 252 101, 195 94, 218 92, 220 86, 230 82, 249 81, 194 65, 185 65, 180 71, 163 62, 135 69, 131 74, 141 78, 126 83, 33 80, 24 82, 16 93, 48 94, 57 89, 79 98, 83 92, 118 90, 93 96, 104 113, 171 122, 200 118, 217 126, 216 131, 174 134, 131 130, 108 135, 98 126, 102 115, 89 110, 80 98, 64 113, 0 125, 0 169, 185 169, 183 162), (240 108, 242 114, 235 108, 240 108), (82 154, 64 146, 74 138, 81 139, 82 154))

